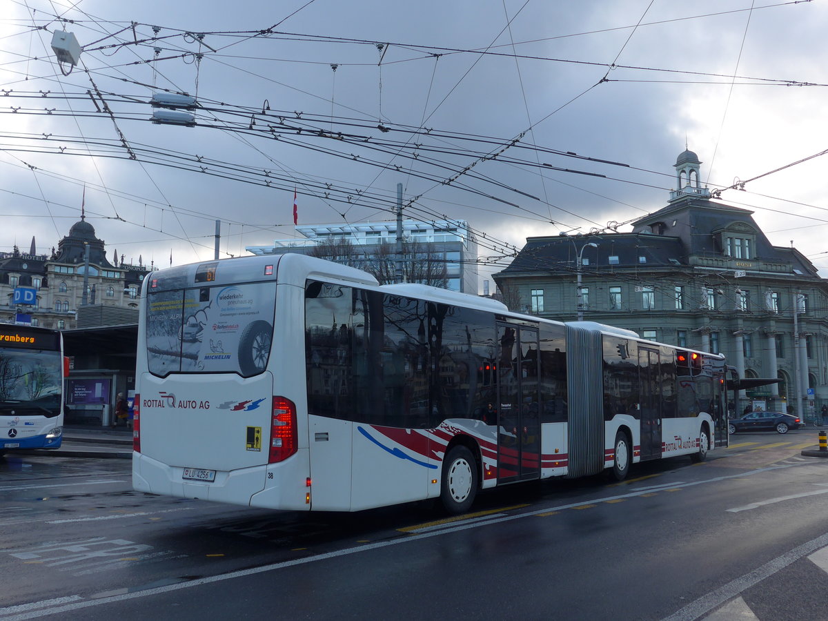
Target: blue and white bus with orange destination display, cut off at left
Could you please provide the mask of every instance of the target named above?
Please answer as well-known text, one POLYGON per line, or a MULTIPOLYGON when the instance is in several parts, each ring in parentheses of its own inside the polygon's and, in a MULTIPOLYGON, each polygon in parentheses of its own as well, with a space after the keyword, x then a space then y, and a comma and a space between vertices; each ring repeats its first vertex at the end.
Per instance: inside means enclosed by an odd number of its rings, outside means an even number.
POLYGON ((60 446, 66 366, 59 330, 0 324, 0 455, 60 446))

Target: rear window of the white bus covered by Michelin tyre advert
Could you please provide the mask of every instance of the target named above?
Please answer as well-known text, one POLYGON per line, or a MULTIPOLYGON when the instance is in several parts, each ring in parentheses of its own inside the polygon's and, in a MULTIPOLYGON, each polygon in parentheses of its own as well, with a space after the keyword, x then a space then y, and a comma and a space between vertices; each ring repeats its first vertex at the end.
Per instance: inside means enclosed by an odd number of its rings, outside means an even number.
POLYGON ((275 304, 275 282, 151 291, 150 373, 262 373, 270 356, 275 304))

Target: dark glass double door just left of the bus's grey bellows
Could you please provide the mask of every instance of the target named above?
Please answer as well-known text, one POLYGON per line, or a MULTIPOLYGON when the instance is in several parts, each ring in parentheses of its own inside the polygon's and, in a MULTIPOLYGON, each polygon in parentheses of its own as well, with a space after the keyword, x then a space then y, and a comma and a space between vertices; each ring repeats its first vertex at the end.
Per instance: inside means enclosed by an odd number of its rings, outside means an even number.
POLYGON ((537 479, 541 419, 537 328, 498 325, 498 482, 537 479))

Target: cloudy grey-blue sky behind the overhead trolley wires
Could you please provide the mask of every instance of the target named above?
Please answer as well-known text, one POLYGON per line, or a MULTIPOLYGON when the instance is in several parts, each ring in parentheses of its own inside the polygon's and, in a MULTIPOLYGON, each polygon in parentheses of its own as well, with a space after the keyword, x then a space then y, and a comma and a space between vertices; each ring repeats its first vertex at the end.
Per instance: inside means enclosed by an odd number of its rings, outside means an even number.
POLYGON ((711 189, 762 176, 722 200, 828 267, 825 0, 2 6, 0 251, 51 252, 84 202, 110 258, 212 258, 216 219, 238 256, 296 237, 294 189, 300 224, 358 223, 402 183, 407 216, 469 222, 486 277, 660 209, 687 145, 711 189), (195 127, 150 122, 165 91, 195 127))

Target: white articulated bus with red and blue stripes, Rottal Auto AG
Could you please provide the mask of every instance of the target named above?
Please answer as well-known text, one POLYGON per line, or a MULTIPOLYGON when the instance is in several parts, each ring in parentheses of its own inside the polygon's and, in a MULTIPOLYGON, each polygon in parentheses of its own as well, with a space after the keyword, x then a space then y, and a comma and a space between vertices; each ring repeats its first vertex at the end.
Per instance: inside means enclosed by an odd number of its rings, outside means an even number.
POLYGON ((727 445, 724 358, 299 254, 145 279, 132 483, 359 511, 703 460, 727 445))

